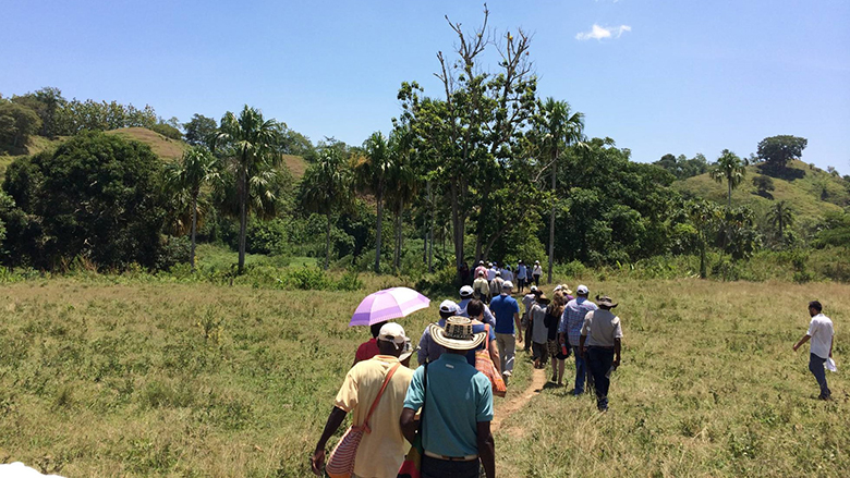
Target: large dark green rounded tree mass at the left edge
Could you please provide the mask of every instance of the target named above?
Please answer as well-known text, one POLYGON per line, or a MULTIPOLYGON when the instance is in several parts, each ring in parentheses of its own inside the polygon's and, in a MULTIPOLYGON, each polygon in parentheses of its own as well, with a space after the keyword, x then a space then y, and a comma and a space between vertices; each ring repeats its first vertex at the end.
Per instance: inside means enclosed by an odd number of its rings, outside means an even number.
POLYGON ((147 146, 100 133, 16 160, 3 183, 20 208, 4 218, 8 258, 38 268, 76 256, 101 267, 154 267, 162 226, 159 171, 147 146))

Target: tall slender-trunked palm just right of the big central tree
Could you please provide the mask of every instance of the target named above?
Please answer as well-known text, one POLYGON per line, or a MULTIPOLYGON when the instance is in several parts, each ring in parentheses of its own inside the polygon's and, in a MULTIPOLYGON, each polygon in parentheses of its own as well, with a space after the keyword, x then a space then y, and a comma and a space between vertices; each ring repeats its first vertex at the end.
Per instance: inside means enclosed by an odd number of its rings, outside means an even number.
POLYGON ((551 158, 551 193, 552 205, 549 215, 549 283, 555 263, 555 196, 556 180, 558 176, 558 157, 573 143, 581 142, 584 137, 584 114, 570 111, 570 103, 546 98, 541 106, 541 128, 544 134, 544 148, 551 158))

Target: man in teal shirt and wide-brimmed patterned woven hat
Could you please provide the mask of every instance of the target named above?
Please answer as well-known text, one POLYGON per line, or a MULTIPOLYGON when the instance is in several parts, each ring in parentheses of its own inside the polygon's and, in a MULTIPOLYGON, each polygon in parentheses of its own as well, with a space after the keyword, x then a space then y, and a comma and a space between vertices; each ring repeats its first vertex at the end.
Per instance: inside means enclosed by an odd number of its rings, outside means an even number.
POLYGON ((464 359, 485 334, 473 333, 465 317, 449 318, 445 328, 428 327, 446 353, 413 373, 399 421, 404 437, 413 442, 414 417, 422 409, 422 478, 477 478, 479 466, 487 478, 495 478, 490 381, 464 359))

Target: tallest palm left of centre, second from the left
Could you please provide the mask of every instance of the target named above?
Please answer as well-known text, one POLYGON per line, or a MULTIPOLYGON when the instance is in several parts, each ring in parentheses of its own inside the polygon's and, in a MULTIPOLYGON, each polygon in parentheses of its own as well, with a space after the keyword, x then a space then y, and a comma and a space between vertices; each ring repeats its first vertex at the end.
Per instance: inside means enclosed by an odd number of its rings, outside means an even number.
MULTIPOLYGON (((239 273, 245 269, 245 235, 252 188, 268 182, 275 175, 282 157, 277 148, 280 123, 264 120, 263 113, 247 105, 239 118, 228 111, 212 138, 215 148, 222 148, 235 173, 239 203, 239 273), (253 186, 253 187, 252 187, 253 186)), ((260 199, 262 200, 262 199, 260 199)))

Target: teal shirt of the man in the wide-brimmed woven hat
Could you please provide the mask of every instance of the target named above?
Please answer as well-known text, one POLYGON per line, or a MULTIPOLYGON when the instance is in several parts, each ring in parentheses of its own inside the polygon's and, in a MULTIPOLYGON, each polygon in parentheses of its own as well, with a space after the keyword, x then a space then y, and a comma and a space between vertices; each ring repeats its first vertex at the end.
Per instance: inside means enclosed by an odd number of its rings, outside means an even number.
POLYGON ((413 372, 404 408, 425 403, 422 445, 446 456, 478 454, 478 421, 493 420, 493 389, 484 373, 463 355, 442 354, 428 365, 427 396, 423 393, 425 367, 413 372))

